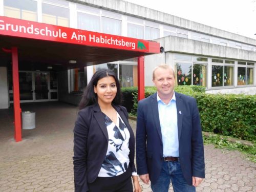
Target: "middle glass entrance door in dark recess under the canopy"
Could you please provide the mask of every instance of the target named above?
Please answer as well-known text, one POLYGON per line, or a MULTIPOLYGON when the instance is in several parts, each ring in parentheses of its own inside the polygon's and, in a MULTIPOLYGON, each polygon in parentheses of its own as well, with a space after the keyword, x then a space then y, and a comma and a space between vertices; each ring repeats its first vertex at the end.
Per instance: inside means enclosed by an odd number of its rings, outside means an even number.
POLYGON ((35 72, 35 100, 49 100, 49 73, 35 72))

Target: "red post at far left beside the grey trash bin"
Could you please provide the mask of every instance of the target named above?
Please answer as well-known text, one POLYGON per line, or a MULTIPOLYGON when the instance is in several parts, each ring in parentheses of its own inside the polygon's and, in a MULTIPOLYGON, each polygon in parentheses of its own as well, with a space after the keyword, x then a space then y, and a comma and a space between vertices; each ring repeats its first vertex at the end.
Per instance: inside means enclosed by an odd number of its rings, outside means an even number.
POLYGON ((19 78, 18 78, 18 49, 12 47, 12 81, 13 81, 13 108, 14 108, 14 139, 22 141, 22 120, 20 117, 19 103, 19 78))

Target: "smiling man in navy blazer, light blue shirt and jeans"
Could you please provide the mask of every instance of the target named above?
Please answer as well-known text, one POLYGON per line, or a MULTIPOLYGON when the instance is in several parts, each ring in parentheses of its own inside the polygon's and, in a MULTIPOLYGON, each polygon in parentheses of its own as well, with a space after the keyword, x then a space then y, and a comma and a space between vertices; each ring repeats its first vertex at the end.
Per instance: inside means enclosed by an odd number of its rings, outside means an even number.
POLYGON ((174 92, 175 73, 161 65, 153 71, 157 93, 139 101, 136 162, 140 179, 154 192, 196 191, 204 173, 204 148, 195 98, 174 92))

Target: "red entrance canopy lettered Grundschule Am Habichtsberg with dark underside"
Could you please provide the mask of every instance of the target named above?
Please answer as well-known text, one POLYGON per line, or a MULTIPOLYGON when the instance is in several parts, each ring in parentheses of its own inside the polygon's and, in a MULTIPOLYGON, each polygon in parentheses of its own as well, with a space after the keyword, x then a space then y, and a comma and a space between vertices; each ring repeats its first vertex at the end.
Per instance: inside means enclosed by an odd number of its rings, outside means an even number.
MULTIPOLYGON (((2 49, 17 47, 19 70, 59 71, 160 53, 158 42, 4 16, 0 16, 0 39, 2 49)), ((11 59, 3 50, 0 58, 11 59)))

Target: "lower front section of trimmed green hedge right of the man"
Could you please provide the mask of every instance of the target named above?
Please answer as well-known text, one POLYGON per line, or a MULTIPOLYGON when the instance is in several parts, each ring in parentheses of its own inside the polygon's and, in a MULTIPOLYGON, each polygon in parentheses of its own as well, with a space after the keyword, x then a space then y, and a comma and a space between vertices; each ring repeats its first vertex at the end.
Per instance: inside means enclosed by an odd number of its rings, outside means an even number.
POLYGON ((255 140, 256 95, 195 94, 203 131, 255 140))

